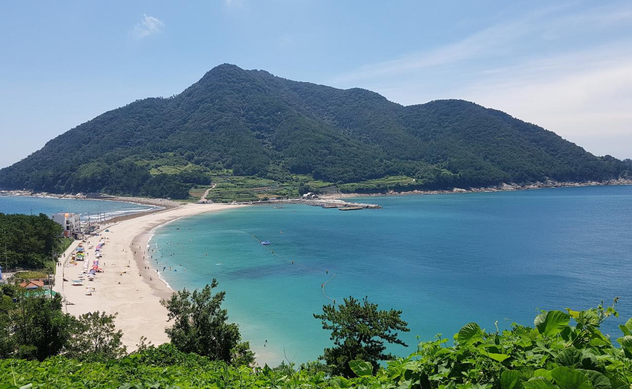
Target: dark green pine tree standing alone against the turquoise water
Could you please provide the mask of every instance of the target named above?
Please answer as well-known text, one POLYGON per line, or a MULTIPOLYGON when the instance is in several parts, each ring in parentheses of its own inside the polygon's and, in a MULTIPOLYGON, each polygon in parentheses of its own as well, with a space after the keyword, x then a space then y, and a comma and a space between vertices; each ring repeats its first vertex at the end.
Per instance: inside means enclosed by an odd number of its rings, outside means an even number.
POLYGON ((391 354, 385 354, 384 342, 395 343, 406 347, 406 343, 398 338, 393 331, 410 331, 408 323, 400 318, 401 311, 379 311, 377 304, 368 302, 365 297, 362 302, 349 297, 339 306, 327 305, 322 307, 322 314, 314 314, 314 318, 322 320, 322 328, 331 331, 334 347, 325 349, 324 359, 331 366, 331 373, 353 376, 349 362, 362 360, 370 362, 375 368, 378 362, 392 359, 391 354))

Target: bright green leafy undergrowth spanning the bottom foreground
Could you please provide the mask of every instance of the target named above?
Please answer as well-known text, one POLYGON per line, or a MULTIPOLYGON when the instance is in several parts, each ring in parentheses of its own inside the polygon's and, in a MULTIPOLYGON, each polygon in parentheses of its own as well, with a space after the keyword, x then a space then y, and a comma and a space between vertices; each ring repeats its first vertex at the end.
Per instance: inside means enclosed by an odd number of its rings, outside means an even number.
MULTIPOLYGON (((370 323, 363 315, 367 304, 350 302, 341 308, 344 316, 351 314, 356 323, 370 323)), ((325 306, 323 316, 332 318, 339 312, 325 306)), ((392 311, 382 314, 382 318, 394 318, 392 311)), ((585 311, 542 311, 533 326, 513 323, 508 330, 487 331, 468 323, 451 339, 437 335, 419 343, 407 357, 392 357, 378 366, 362 359, 346 361, 346 376, 332 370, 343 366, 318 362, 298 367, 235 366, 183 352, 173 343, 141 345, 136 352, 106 361, 73 359, 63 353, 43 361, 5 354, 9 358, 0 360, 0 382, 4 383, 0 388, 629 388, 632 319, 619 326, 622 336, 615 346, 599 330, 611 316, 618 316, 614 304, 600 304, 585 311)), ((347 319, 334 321, 348 323, 347 319)), ((353 337, 363 333, 369 334, 356 328, 353 337)), ((58 348, 53 345, 50 350, 58 348)))

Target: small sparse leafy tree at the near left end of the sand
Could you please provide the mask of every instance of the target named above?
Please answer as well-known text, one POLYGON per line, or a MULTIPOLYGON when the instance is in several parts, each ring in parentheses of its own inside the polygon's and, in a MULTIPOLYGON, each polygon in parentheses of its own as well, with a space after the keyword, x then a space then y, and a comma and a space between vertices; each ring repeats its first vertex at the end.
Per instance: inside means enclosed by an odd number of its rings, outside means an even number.
POLYGON ((106 361, 125 355, 126 347, 121 343, 123 331, 116 330, 115 318, 116 314, 99 311, 79 316, 66 354, 84 361, 106 361))

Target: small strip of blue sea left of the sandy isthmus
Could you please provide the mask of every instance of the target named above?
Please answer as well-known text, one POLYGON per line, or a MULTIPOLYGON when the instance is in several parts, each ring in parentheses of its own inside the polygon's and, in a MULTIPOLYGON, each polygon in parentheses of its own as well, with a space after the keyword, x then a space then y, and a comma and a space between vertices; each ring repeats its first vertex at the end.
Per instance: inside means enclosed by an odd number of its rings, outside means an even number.
POLYGON ((152 206, 133 204, 131 202, 102 201, 102 200, 78 200, 55 199, 52 197, 30 196, 0 196, 1 213, 44 213, 51 216, 55 213, 70 212, 80 214, 82 219, 94 219, 97 213, 102 213, 105 218, 123 216, 154 209, 152 206))

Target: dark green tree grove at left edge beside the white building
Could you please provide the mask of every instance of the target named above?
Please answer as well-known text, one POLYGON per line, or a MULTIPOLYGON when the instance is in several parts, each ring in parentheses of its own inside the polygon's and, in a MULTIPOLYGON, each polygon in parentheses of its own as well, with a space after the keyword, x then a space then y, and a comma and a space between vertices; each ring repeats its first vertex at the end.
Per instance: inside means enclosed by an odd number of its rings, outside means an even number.
POLYGON ((0 213, 0 266, 4 271, 8 267, 52 272, 57 256, 70 244, 64 242, 63 232, 59 223, 43 213, 0 213))

